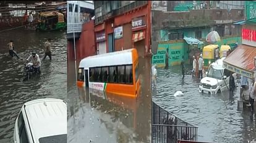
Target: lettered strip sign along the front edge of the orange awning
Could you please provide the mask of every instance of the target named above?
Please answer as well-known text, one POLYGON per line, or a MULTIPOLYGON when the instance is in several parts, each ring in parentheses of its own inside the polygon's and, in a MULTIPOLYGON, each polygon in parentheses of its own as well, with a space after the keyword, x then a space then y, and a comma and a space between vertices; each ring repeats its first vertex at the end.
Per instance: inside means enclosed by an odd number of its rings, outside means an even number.
POLYGON ((246 76, 248 78, 254 78, 254 74, 252 73, 252 71, 247 71, 247 70, 244 70, 242 68, 237 68, 233 65, 229 65, 226 62, 223 62, 223 68, 226 68, 227 70, 238 73, 239 75, 246 76))

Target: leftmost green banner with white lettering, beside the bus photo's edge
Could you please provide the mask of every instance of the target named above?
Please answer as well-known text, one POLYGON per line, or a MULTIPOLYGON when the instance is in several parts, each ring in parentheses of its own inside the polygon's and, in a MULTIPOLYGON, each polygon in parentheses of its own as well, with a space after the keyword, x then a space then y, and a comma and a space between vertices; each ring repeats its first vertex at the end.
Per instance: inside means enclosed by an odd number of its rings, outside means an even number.
POLYGON ((152 65, 157 67, 165 67, 166 49, 158 49, 157 54, 152 57, 152 65))

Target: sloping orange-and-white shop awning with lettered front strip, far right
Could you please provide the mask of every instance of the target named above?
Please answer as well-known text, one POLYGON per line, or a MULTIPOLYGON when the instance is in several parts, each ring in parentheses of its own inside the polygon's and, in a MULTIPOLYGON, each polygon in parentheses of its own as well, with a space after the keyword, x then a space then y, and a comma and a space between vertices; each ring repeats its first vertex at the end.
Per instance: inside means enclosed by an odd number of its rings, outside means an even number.
POLYGON ((223 67, 248 78, 254 78, 256 47, 239 45, 226 59, 223 67))

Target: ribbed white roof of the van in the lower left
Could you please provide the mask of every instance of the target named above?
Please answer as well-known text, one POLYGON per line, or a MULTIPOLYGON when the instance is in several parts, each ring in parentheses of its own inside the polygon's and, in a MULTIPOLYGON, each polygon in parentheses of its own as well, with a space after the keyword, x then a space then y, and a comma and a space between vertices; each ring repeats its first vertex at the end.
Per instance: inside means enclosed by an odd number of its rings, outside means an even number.
POLYGON ((42 137, 45 141, 47 137, 53 139, 56 135, 66 137, 67 105, 64 100, 37 99, 25 103, 23 107, 35 142, 42 137))

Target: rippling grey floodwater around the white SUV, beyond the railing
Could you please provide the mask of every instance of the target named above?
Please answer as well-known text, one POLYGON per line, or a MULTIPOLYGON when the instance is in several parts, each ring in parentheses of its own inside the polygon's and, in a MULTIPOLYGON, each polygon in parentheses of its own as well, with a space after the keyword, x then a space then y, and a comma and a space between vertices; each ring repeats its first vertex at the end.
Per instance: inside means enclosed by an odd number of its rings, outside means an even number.
MULTIPOLYGON (((192 69, 192 67, 190 68, 192 69)), ((198 141, 252 142, 256 141, 256 115, 249 110, 237 110, 240 89, 229 93, 201 94, 200 80, 186 75, 182 80, 179 66, 157 69, 157 87, 152 100, 184 121, 198 127, 198 141), (176 91, 184 96, 174 97, 176 91)))

